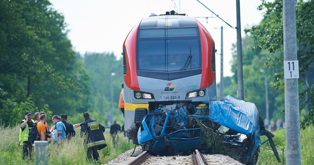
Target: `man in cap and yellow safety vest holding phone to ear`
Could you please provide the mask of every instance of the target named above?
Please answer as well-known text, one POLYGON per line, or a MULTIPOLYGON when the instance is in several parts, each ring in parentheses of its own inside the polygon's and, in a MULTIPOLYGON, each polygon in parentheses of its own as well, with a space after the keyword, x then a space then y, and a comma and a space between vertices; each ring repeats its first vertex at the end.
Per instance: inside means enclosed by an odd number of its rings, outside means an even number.
POLYGON ((23 160, 28 156, 31 157, 32 144, 28 142, 28 133, 32 127, 34 127, 35 121, 32 119, 32 113, 30 111, 25 112, 25 119, 21 121, 21 128, 19 133, 19 144, 23 142, 23 160))

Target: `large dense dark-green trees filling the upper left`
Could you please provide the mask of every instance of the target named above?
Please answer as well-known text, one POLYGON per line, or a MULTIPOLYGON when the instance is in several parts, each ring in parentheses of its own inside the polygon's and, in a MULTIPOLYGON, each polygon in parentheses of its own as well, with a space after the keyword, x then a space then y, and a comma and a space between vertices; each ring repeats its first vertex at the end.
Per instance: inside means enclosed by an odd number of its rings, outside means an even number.
POLYGON ((47 0, 0 1, 0 116, 21 119, 37 107, 54 113, 89 107, 84 103, 89 102, 89 76, 72 50, 64 17, 50 5, 47 0))

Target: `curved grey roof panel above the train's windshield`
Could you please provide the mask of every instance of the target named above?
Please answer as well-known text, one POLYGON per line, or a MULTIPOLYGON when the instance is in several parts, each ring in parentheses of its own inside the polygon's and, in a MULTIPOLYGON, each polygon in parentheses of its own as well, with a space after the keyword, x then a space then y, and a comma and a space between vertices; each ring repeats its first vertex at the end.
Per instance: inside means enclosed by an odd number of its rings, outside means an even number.
POLYGON ((159 15, 143 18, 139 28, 197 27, 194 17, 183 15, 159 15))

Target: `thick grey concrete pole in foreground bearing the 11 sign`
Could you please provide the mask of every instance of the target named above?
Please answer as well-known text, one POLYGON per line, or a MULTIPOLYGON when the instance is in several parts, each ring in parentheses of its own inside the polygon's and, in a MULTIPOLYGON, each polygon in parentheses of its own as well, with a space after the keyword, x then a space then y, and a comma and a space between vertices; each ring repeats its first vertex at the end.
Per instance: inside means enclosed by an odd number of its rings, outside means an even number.
MULTIPOLYGON (((285 61, 297 60, 295 0, 283 0, 283 18, 285 64, 285 61)), ((284 72, 285 70, 284 67, 284 72)), ((298 71, 299 68, 297 67, 296 70, 298 71)), ((298 79, 287 79, 286 76, 285 74, 286 163, 287 165, 297 165, 301 164, 298 79)))

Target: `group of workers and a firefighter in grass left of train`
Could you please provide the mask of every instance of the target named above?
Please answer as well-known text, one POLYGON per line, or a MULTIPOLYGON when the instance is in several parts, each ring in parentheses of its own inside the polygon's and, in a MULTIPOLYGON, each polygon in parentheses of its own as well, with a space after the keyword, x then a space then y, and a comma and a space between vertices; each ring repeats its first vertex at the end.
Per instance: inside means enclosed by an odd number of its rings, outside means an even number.
POLYGON ((81 137, 84 138, 84 147, 87 150, 86 159, 94 160, 96 163, 100 162, 98 150, 107 146, 104 137, 105 127, 98 121, 90 119, 89 113, 84 112, 84 121, 81 124, 68 123, 68 115, 62 114, 61 116, 52 116, 53 126, 51 129, 47 124, 47 116, 45 112, 36 112, 32 119, 30 111, 25 112, 25 119, 20 122, 19 143, 22 146, 23 160, 31 158, 32 144, 35 140, 48 141, 53 145, 60 145, 65 140, 71 140, 75 136, 75 128, 80 128, 81 137), (36 131, 37 130, 37 131, 36 131), (22 142, 22 144, 21 144, 22 142), (93 157, 93 159, 92 159, 93 157))

